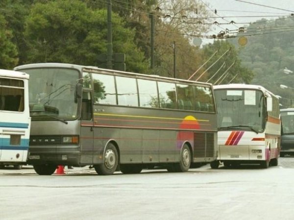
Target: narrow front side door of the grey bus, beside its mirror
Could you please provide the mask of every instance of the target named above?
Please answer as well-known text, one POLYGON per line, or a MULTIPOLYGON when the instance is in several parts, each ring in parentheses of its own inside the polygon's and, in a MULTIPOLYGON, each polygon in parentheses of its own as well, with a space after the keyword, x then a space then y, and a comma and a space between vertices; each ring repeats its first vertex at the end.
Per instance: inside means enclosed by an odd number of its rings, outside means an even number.
POLYGON ((81 159, 80 163, 93 164, 93 101, 92 90, 84 89, 82 92, 81 107, 81 159))

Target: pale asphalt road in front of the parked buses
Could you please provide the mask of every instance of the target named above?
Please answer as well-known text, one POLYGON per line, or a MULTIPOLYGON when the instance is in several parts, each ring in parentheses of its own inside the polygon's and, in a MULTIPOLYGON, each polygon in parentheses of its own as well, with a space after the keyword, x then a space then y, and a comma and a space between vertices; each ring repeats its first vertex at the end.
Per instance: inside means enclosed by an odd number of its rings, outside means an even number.
POLYGON ((98 176, 89 167, 38 176, 0 170, 0 220, 292 220, 294 157, 277 167, 209 165, 187 173, 98 176))

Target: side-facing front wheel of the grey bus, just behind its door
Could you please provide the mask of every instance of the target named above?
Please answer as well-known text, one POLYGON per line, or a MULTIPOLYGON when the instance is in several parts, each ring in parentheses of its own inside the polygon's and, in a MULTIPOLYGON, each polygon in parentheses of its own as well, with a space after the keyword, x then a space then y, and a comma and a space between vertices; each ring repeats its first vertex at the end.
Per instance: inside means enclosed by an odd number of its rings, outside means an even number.
POLYGON ((105 149, 103 163, 94 165, 95 171, 99 175, 113 174, 118 166, 118 158, 116 147, 112 143, 109 143, 105 149))

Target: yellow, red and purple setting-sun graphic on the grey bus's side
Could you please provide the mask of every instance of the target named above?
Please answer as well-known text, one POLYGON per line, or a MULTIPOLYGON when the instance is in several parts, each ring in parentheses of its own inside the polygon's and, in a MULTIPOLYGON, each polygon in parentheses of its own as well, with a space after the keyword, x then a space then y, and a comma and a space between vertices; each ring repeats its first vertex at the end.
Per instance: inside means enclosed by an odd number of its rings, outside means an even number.
POLYGON ((188 131, 180 131, 177 134, 177 147, 181 148, 185 141, 189 141, 190 143, 194 142, 194 131, 189 130, 198 130, 200 129, 200 125, 197 119, 194 116, 186 116, 180 124, 180 129, 188 130, 188 131))

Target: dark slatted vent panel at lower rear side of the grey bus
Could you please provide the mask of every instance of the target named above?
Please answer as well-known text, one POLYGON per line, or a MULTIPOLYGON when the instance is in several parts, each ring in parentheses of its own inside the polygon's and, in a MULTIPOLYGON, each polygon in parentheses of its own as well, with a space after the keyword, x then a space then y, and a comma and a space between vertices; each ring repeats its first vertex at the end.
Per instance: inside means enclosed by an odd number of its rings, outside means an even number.
POLYGON ((194 154, 193 157, 213 157, 214 156, 214 133, 195 132, 194 133, 194 154))

